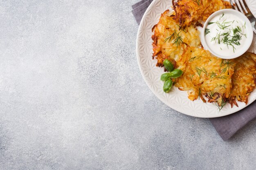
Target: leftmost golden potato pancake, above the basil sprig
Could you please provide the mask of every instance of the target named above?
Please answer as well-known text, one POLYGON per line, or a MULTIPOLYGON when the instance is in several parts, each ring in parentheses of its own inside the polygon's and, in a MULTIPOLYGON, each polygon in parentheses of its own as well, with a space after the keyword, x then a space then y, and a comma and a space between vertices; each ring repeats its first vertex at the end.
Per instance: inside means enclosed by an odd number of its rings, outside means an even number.
POLYGON ((181 28, 175 20, 173 20, 173 13, 166 10, 162 13, 158 24, 156 24, 152 31, 153 40, 153 59, 157 55, 157 66, 163 66, 164 59, 170 61, 177 60, 184 51, 184 45, 200 46, 200 32, 195 26, 188 26, 181 28))

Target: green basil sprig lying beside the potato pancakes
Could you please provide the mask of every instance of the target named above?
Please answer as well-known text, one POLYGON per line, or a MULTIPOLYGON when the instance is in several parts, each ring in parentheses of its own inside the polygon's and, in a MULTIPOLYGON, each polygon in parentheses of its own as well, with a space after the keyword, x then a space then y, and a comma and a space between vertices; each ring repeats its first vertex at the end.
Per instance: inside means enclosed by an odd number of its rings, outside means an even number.
POLYGON ((168 93, 171 90, 171 87, 173 86, 173 81, 171 79, 180 77, 183 74, 183 71, 180 69, 173 70, 173 64, 167 59, 164 60, 163 64, 166 70, 169 71, 169 73, 162 74, 160 79, 164 81, 164 92, 168 93))

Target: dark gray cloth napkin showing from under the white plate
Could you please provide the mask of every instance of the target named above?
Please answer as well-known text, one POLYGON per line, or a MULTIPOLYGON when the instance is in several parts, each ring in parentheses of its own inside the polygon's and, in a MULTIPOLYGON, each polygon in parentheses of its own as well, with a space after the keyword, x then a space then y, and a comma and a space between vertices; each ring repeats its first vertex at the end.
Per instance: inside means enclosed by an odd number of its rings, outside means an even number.
MULTIPOLYGON (((142 16, 152 1, 153 0, 141 0, 138 3, 132 5, 132 14, 134 15, 138 24, 140 23, 142 16)), ((219 133, 220 137, 226 141, 255 117, 256 104, 253 102, 243 110, 240 110, 234 114, 223 117, 210 118, 210 121, 219 133)))

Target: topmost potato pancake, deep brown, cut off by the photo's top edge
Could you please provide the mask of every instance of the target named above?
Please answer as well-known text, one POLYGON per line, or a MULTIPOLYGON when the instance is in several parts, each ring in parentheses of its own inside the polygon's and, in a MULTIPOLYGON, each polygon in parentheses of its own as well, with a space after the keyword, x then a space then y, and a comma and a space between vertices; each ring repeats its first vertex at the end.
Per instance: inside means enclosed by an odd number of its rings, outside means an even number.
POLYGON ((190 26, 196 22, 206 21, 207 18, 220 9, 231 8, 224 0, 180 0, 173 2, 175 16, 173 19, 180 26, 190 26))

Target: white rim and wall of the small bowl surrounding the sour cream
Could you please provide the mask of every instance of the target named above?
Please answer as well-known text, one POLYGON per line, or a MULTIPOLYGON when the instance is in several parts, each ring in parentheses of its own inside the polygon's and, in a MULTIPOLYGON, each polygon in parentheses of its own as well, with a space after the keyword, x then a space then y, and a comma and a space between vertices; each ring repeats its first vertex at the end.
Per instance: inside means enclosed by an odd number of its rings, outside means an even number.
POLYGON ((239 56, 243 55, 243 53, 245 53, 249 49, 250 45, 252 44, 252 39, 253 39, 253 30, 252 30, 251 22, 249 21, 249 19, 243 13, 241 13, 239 11, 236 11, 234 9, 221 9, 221 10, 216 11, 215 13, 211 14, 209 16, 209 18, 206 20, 206 22, 204 23, 204 27, 203 27, 201 33, 202 33, 202 35, 201 35, 202 45, 203 45, 204 49, 209 50, 216 57, 220 57, 220 58, 223 58, 223 59, 232 59, 232 58, 236 58, 236 57, 239 57, 239 56), (245 21, 246 29, 248 31, 247 41, 246 41, 246 44, 243 45, 243 48, 240 51, 236 50, 235 53, 231 53, 229 56, 222 56, 220 54, 217 54, 215 51, 213 51, 212 49, 209 48, 209 46, 208 46, 208 44, 205 40, 204 30, 207 27, 208 22, 211 21, 211 19, 213 17, 215 17, 216 15, 218 15, 220 13, 231 13, 233 15, 236 15, 238 18, 245 21))

